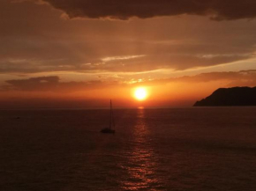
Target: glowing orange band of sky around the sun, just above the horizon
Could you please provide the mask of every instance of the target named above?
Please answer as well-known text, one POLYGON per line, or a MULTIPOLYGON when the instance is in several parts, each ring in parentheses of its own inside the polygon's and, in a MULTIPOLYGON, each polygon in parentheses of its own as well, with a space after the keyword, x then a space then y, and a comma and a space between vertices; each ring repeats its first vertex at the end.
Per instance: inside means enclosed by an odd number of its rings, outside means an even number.
MULTIPOLYGON (((190 82, 155 82, 120 86, 74 86, 59 82, 59 89, 49 91, 16 90, 0 93, 0 108, 26 107, 109 107, 112 99, 115 107, 191 107, 197 100, 203 99, 229 81, 207 83, 190 82)), ((41 85, 41 84, 39 84, 41 85)), ((49 84, 50 85, 50 84, 49 84)), ((31 86, 28 86, 31 88, 31 86)), ((45 83, 42 88, 45 87, 45 83)), ((51 88, 51 86, 50 86, 51 88)))

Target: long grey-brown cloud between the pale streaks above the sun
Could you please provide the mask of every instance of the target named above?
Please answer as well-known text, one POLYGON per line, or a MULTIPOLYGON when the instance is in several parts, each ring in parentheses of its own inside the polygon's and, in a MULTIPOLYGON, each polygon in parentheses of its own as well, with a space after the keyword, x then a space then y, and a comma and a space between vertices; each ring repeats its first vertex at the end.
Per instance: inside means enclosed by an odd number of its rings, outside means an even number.
POLYGON ((170 54, 170 53, 152 53, 132 60, 111 60, 105 64, 98 65, 95 69, 116 72, 143 72, 150 70, 172 69, 186 70, 198 67, 215 66, 229 62, 242 61, 253 58, 253 54, 245 55, 193 55, 170 54))

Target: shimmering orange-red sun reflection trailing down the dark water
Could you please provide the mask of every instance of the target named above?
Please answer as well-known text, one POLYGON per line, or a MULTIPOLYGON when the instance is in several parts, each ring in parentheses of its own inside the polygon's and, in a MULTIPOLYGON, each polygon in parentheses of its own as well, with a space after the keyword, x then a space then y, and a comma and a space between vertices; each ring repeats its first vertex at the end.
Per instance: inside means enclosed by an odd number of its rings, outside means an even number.
MULTIPOLYGON (((124 190, 140 190, 155 187, 158 180, 155 176, 155 155, 150 145, 150 130, 145 121, 145 110, 137 110, 137 123, 133 131, 133 147, 125 170, 128 179, 123 182, 124 190)), ((152 190, 152 189, 151 189, 152 190)))

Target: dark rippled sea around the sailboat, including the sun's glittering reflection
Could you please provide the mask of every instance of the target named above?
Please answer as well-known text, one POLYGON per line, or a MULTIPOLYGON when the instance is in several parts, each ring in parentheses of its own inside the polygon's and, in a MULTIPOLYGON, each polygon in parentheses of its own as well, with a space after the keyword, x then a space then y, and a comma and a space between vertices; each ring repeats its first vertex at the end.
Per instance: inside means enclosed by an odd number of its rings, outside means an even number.
POLYGON ((115 115, 0 111, 0 190, 256 190, 256 107, 115 115))

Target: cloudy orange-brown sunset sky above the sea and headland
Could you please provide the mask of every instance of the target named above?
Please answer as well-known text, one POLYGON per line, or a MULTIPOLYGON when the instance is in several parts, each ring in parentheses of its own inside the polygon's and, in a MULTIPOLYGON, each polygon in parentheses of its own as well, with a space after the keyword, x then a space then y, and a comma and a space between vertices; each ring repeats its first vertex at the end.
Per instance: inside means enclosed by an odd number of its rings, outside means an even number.
POLYGON ((254 0, 1 0, 0 108, 191 107, 256 86, 255 17, 254 0))

